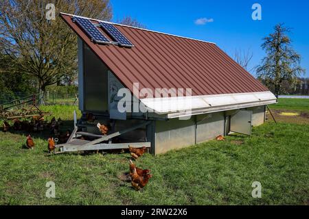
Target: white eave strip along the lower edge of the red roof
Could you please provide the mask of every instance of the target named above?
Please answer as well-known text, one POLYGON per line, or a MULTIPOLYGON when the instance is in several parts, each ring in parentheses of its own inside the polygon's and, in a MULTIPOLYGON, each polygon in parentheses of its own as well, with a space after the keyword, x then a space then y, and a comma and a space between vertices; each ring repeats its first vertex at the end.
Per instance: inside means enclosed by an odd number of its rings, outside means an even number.
MULTIPOLYGON (((218 112, 235 110, 242 107, 254 107, 277 103, 277 98, 270 92, 250 92, 237 94, 215 94, 205 96, 179 96, 166 98, 141 99, 148 110, 156 114, 176 114, 185 112, 185 115, 199 112, 218 112)), ((179 114, 179 116, 177 116, 179 114)), ((185 116, 183 115, 183 116, 185 116)), ((170 116, 168 116, 170 118, 170 116)))

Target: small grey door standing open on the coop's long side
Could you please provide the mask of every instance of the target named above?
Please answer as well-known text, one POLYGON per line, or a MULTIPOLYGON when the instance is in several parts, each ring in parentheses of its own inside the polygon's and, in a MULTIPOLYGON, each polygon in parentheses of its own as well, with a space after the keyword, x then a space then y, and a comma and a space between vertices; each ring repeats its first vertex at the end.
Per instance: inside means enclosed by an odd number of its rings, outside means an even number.
POLYGON ((251 110, 239 110, 236 114, 231 116, 230 131, 242 133, 251 136, 251 110))

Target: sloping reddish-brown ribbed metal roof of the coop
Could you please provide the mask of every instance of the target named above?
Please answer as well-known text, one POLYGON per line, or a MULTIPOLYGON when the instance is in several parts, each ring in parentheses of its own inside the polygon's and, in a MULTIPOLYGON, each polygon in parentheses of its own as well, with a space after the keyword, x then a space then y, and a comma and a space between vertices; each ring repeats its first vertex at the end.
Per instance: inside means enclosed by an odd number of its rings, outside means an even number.
POLYGON ((135 47, 96 44, 71 15, 60 16, 131 92, 136 82, 139 90, 192 88, 192 95, 268 91, 211 42, 115 24, 135 47))

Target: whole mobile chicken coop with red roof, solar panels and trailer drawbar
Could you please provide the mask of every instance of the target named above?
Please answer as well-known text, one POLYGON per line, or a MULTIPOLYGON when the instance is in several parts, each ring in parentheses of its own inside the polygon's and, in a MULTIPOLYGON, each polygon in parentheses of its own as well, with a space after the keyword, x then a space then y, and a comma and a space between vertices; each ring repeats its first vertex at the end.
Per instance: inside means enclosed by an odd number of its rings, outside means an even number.
POLYGON ((61 151, 127 149, 130 144, 159 154, 230 132, 250 135, 252 125, 264 123, 266 105, 277 101, 212 42, 60 16, 78 35, 83 114, 68 142, 58 145, 61 151), (133 94, 126 111, 117 107, 122 88, 133 94), (190 89, 190 95, 174 95, 190 89), (89 114, 110 124, 106 136, 96 122, 87 121, 89 114))

